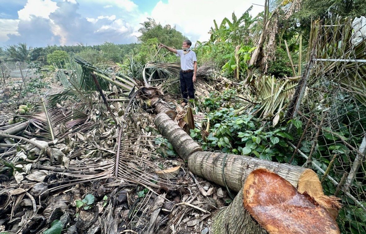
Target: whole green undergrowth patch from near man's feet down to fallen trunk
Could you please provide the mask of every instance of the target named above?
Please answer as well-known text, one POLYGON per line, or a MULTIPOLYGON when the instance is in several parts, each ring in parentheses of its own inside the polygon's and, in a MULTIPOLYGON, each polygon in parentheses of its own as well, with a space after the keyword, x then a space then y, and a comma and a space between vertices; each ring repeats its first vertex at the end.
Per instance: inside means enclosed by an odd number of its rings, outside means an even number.
MULTIPOLYGON (((250 113, 238 112, 239 102, 235 89, 223 93, 211 93, 202 102, 202 109, 208 110, 207 119, 197 123, 191 130, 191 137, 199 141, 203 150, 220 150, 232 154, 242 154, 276 162, 289 162, 292 150, 287 141, 294 141, 288 129, 302 126, 299 120, 290 120, 273 127, 250 113), (208 132, 203 132, 209 124, 208 132), (207 136, 206 136, 207 135, 207 136)), ((299 131, 300 133, 301 131, 299 131)), ((299 162, 292 161, 297 165, 299 162)))

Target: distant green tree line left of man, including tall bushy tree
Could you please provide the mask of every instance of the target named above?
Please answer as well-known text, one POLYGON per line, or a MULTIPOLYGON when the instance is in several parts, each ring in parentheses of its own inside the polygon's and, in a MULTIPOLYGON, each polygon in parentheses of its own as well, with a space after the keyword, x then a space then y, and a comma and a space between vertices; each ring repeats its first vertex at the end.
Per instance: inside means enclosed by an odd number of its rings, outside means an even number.
POLYGON ((180 48, 182 41, 187 39, 175 27, 169 24, 162 26, 154 19, 148 18, 141 23, 139 29, 141 36, 138 43, 114 44, 104 42, 102 45, 48 45, 46 47, 32 48, 26 43, 0 47, 0 63, 6 61, 39 62, 43 65, 56 65, 57 67, 66 64, 68 58, 80 56, 92 64, 105 63, 108 61, 124 63, 132 57, 135 63, 143 64, 151 60, 157 52, 158 43, 167 44, 180 48))

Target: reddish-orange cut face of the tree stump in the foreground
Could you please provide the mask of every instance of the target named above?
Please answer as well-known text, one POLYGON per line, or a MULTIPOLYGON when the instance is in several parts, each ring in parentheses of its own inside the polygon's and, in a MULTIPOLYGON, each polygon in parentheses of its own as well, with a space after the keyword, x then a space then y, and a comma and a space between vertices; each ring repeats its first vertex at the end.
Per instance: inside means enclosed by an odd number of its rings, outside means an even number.
POLYGON ((324 207, 266 169, 254 170, 247 177, 243 204, 268 233, 340 233, 335 218, 324 207))

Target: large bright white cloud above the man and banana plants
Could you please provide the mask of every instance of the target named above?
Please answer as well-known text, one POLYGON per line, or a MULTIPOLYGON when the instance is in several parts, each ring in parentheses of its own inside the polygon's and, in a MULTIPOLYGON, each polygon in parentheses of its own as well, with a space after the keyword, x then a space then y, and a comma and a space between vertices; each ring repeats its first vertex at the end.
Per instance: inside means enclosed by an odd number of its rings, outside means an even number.
MULTIPOLYGON (((156 22, 176 26, 178 31, 190 38, 192 41, 208 41, 209 30, 213 26, 213 20, 217 24, 231 15, 239 18, 252 4, 251 1, 225 0, 220 3, 213 3, 213 0, 184 0, 184 5, 180 0, 168 0, 168 3, 159 1, 151 15, 156 22)), ((256 4, 264 5, 264 0, 255 1, 256 4)), ((250 11, 252 16, 256 16, 263 11, 264 7, 253 5, 250 11)))

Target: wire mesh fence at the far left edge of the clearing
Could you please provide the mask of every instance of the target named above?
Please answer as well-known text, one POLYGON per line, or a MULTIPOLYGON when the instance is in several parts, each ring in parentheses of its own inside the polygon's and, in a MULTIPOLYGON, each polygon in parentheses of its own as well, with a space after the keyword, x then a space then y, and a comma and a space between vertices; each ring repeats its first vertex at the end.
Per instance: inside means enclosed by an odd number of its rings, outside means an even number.
POLYGON ((0 63, 0 107, 16 105, 30 79, 39 77, 36 71, 25 62, 0 63))

